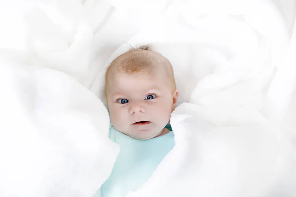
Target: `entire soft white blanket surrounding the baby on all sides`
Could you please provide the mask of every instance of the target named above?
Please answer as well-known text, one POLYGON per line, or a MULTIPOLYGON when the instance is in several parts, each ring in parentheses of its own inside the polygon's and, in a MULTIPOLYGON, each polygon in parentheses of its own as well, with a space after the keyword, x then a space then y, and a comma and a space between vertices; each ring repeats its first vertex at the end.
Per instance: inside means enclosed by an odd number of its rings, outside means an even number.
POLYGON ((296 196, 295 5, 0 1, 0 196, 100 188, 119 151, 107 137, 104 73, 144 43, 174 67, 176 146, 128 196, 296 196))

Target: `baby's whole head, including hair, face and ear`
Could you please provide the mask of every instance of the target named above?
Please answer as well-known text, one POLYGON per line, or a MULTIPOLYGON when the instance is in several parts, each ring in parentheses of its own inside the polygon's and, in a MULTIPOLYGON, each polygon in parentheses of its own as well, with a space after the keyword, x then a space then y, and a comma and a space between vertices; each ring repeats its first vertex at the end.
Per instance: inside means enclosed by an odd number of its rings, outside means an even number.
POLYGON ((135 139, 162 135, 175 109, 173 68, 145 45, 117 57, 105 75, 110 119, 118 131, 135 139))

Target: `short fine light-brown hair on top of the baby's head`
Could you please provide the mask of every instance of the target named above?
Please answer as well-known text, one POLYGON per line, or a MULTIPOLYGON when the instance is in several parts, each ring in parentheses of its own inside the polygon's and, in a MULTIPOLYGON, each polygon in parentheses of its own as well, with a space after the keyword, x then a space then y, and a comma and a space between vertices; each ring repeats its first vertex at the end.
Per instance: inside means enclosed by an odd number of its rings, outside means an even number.
POLYGON ((168 78, 172 82, 172 88, 175 90, 174 71, 170 61, 160 53, 153 51, 151 44, 147 44, 136 48, 131 47, 127 52, 121 54, 111 62, 105 73, 105 95, 111 72, 125 74, 134 74, 142 71, 151 72, 159 65, 166 69, 168 78), (151 54, 143 53, 143 51, 149 51, 151 54), (155 57, 155 55, 158 57, 155 57))

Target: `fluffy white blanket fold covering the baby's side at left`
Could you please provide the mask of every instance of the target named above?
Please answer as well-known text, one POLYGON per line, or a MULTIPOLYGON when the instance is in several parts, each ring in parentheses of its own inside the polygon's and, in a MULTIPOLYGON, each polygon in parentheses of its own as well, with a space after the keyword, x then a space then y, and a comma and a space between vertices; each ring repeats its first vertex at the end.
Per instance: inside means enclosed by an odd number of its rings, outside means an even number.
POLYGON ((119 152, 102 102, 64 73, 0 65, 0 196, 91 197, 119 152))

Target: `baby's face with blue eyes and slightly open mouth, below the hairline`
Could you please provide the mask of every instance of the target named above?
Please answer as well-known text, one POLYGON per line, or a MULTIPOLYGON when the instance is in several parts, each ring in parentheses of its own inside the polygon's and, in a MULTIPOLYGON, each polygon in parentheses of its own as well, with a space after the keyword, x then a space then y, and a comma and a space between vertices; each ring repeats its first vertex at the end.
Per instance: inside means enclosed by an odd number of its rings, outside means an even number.
POLYGON ((159 72, 115 74, 108 84, 108 109, 118 131, 135 139, 158 136, 170 120, 178 92, 159 72))

